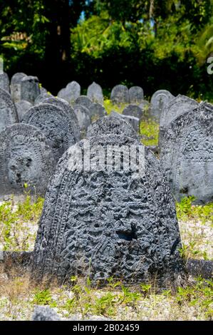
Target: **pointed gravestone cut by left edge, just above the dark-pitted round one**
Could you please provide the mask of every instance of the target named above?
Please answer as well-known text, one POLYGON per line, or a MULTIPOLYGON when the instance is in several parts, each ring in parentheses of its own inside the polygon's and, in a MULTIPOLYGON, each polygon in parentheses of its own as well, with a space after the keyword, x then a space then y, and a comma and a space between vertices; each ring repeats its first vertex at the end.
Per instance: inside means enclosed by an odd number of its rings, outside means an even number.
POLYGON ((0 132, 7 125, 12 125, 17 122, 18 115, 11 95, 0 88, 0 132))

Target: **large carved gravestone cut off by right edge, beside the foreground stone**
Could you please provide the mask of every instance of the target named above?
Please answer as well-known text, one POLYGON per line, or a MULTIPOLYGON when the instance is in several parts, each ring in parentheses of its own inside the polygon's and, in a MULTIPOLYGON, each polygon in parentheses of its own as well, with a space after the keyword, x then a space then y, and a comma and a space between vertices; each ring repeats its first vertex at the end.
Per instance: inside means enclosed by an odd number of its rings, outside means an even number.
POLYGON ((160 158, 177 200, 213 200, 212 124, 213 106, 202 103, 172 120, 161 138, 160 158))

